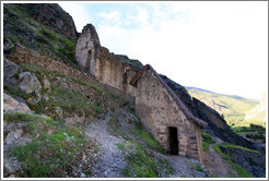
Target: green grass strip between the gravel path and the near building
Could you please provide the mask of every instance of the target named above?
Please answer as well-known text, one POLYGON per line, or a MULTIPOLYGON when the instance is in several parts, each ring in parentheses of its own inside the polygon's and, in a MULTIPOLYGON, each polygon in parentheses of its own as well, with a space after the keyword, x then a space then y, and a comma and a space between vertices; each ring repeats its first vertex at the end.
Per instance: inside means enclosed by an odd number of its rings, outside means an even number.
MULTIPOLYGON (((120 122, 117 117, 112 117, 108 120, 109 131, 113 134, 120 135, 120 122)), ((129 133, 133 136, 129 136, 124 133, 122 143, 116 144, 117 147, 126 153, 125 161, 126 168, 122 170, 125 177, 130 178, 156 178, 160 173, 166 176, 173 173, 173 168, 165 159, 156 159, 150 149, 157 150, 165 154, 163 147, 144 130, 141 123, 137 123, 136 128, 130 130, 129 133)))

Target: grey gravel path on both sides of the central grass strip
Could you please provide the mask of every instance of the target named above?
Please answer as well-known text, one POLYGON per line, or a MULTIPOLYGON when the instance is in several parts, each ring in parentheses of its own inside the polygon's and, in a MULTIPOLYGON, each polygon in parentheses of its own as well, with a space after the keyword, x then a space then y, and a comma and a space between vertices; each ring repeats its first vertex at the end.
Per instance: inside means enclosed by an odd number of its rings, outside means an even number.
MULTIPOLYGON (((125 156, 128 153, 120 150, 117 144, 121 144, 125 140, 121 136, 112 135, 108 131, 108 120, 112 116, 106 116, 105 119, 95 120, 89 124, 85 130, 85 135, 94 141, 98 147, 98 156, 95 158, 95 164, 92 168, 94 178, 124 178, 122 170, 127 162, 125 156)), ((120 128, 119 128, 120 129, 120 128)), ((121 128, 122 129, 122 128, 121 128)), ((133 135, 129 135, 133 136, 133 135)), ((155 150, 151 150, 154 158, 166 159, 173 167, 174 173, 171 178, 204 178, 208 177, 204 171, 198 171, 198 160, 194 160, 184 156, 163 155, 155 150)))

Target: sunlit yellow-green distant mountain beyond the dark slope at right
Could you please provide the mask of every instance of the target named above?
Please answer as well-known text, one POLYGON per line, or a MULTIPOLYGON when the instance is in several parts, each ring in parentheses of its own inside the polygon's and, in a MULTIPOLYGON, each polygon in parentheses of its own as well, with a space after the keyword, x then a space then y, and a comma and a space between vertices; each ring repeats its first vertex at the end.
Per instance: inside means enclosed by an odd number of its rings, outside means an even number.
POLYGON ((259 106, 259 100, 218 94, 197 87, 186 87, 186 89, 192 97, 198 98, 222 114, 230 125, 247 125, 248 123, 264 124, 265 122, 265 111, 262 114, 259 113, 259 117, 255 117, 255 114, 258 114, 255 111, 258 109, 255 108, 259 106), (253 119, 246 119, 246 114, 247 118, 253 114, 253 119))

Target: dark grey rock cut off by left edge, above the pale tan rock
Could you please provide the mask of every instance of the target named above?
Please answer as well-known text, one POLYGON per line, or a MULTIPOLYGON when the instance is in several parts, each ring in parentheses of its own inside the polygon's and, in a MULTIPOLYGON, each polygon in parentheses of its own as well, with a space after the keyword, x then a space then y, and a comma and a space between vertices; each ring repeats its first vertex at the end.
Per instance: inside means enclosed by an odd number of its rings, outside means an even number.
POLYGON ((15 74, 21 71, 20 67, 3 57, 3 84, 15 86, 17 80, 15 74))

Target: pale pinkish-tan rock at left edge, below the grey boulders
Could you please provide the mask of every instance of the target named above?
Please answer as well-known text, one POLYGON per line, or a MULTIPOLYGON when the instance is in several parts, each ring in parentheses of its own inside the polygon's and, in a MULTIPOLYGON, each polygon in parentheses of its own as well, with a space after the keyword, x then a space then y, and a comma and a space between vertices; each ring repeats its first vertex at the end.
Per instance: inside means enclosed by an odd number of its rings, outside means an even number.
POLYGON ((11 113, 11 112, 24 112, 31 113, 30 108, 23 104, 16 101, 11 96, 3 93, 3 112, 11 113))

